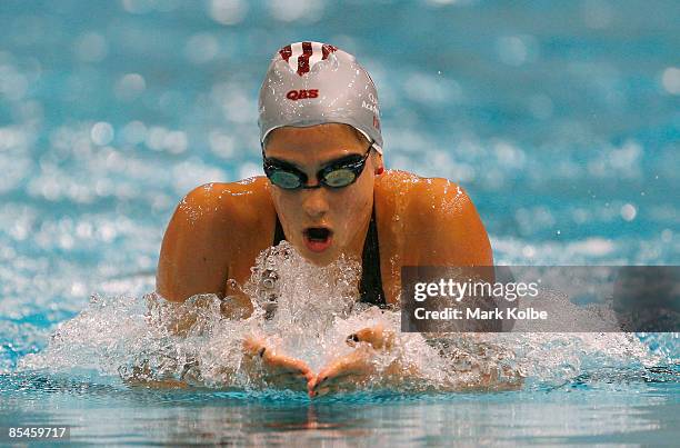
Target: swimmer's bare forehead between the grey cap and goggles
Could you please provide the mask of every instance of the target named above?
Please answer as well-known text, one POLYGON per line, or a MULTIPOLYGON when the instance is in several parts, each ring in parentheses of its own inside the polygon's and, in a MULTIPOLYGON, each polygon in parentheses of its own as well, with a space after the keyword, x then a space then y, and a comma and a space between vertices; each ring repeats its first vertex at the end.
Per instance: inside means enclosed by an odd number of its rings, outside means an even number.
POLYGON ((323 163, 352 153, 363 153, 368 141, 348 125, 326 123, 306 128, 274 129, 267 138, 267 157, 299 165, 323 163))

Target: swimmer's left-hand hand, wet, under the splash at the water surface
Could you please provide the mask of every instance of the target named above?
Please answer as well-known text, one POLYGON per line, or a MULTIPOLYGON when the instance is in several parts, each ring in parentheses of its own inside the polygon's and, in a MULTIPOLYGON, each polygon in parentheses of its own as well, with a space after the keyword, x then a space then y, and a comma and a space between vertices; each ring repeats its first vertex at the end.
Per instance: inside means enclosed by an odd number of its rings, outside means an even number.
POLYGON ((243 365, 256 384, 291 390, 306 390, 314 376, 303 361, 278 354, 264 340, 243 340, 243 365))

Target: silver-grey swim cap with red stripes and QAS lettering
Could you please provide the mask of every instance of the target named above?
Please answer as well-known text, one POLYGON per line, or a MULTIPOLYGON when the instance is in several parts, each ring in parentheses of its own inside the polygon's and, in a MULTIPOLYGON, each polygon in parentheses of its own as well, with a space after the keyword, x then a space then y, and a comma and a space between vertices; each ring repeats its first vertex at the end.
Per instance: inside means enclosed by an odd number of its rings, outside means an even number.
POLYGON ((378 92, 354 57, 319 42, 297 42, 271 60, 259 99, 260 143, 283 126, 344 123, 382 153, 378 92))

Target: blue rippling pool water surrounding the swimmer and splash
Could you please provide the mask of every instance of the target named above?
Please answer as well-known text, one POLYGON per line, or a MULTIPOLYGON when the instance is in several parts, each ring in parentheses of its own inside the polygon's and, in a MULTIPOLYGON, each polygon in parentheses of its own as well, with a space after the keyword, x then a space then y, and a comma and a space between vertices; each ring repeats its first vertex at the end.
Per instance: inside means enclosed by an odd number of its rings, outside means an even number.
POLYGON ((357 54, 389 168, 463 186, 498 263, 678 265, 679 22, 662 0, 0 2, 0 426, 109 444, 677 440, 678 335, 548 338, 560 368, 518 391, 310 401, 130 388, 103 359, 132 335, 77 316, 91 295, 153 290, 188 190, 260 173, 259 83, 299 40, 357 54), (69 321, 90 359, 49 351, 69 321))

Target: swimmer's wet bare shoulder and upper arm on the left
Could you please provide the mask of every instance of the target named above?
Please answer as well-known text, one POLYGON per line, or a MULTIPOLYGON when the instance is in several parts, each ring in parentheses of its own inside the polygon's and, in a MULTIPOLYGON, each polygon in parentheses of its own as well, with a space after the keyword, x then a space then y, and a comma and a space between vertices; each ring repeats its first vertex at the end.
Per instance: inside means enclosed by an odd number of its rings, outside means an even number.
POLYGON ((157 291, 172 301, 226 293, 271 245, 276 211, 264 178, 206 183, 182 198, 166 229, 157 291))

